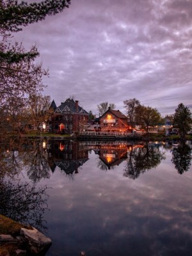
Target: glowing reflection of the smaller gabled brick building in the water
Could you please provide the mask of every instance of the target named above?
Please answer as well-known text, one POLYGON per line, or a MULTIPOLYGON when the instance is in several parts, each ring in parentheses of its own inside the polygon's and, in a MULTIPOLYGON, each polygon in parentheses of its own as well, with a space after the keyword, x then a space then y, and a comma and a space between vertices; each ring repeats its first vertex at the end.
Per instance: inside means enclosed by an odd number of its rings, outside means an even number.
POLYGON ((101 145, 99 147, 99 158, 110 169, 127 159, 127 145, 101 145))

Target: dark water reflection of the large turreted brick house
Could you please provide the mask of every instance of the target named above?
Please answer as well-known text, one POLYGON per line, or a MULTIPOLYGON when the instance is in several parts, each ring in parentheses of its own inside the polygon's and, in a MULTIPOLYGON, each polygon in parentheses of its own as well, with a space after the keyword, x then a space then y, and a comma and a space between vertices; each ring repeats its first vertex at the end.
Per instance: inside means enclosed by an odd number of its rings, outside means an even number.
POLYGON ((52 140, 48 143, 48 161, 52 172, 58 166, 67 174, 78 173, 78 168, 88 160, 88 150, 81 148, 78 142, 52 140))

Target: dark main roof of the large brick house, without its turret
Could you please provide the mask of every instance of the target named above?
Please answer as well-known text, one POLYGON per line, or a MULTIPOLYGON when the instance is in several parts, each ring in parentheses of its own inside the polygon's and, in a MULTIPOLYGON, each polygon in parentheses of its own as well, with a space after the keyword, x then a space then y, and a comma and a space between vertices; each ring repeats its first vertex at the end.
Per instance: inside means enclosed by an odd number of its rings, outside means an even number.
POLYGON ((77 104, 78 102, 75 102, 73 99, 67 99, 65 100, 65 102, 61 102, 61 105, 58 106, 58 108, 56 108, 54 112, 55 113, 65 113, 65 112, 82 113, 82 114, 88 115, 88 112, 77 104), (76 106, 77 106, 77 111, 76 111, 76 106))

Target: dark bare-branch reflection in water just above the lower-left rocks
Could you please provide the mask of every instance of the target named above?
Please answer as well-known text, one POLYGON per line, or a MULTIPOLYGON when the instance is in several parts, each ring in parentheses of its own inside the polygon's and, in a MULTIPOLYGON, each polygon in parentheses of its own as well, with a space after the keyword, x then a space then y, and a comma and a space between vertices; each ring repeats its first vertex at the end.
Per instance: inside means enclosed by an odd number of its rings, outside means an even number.
POLYGON ((28 183, 0 180, 0 214, 33 225, 38 230, 45 231, 44 212, 48 209, 47 187, 36 189, 28 183))

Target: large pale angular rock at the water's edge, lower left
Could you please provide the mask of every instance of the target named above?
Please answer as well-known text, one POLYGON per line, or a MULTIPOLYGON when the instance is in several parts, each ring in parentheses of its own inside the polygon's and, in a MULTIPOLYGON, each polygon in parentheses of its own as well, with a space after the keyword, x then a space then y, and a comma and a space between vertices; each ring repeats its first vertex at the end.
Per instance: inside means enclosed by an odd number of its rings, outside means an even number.
POLYGON ((28 243, 31 253, 40 253, 48 250, 51 246, 51 239, 33 228, 32 230, 20 228, 20 236, 24 242, 28 243))

